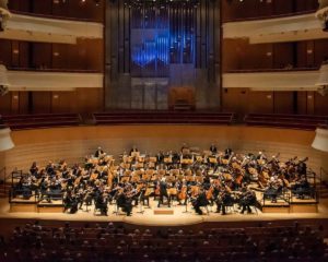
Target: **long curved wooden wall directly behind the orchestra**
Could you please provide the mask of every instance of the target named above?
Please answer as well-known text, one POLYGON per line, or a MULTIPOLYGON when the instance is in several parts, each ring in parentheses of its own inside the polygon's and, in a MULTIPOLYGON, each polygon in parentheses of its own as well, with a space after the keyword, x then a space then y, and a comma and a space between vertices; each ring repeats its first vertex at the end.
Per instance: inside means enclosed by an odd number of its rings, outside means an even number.
POLYGON ((308 166, 318 170, 321 159, 320 153, 311 147, 314 136, 314 131, 244 126, 151 124, 26 130, 12 133, 16 146, 7 153, 5 164, 9 170, 28 168, 33 160, 43 166, 49 159, 65 158, 71 165, 94 153, 98 145, 118 156, 133 144, 141 152, 155 153, 179 150, 183 143, 199 148, 215 143, 221 151, 226 147, 241 153, 262 151, 269 156, 280 152, 283 160, 295 155, 300 158, 308 156, 308 166))

